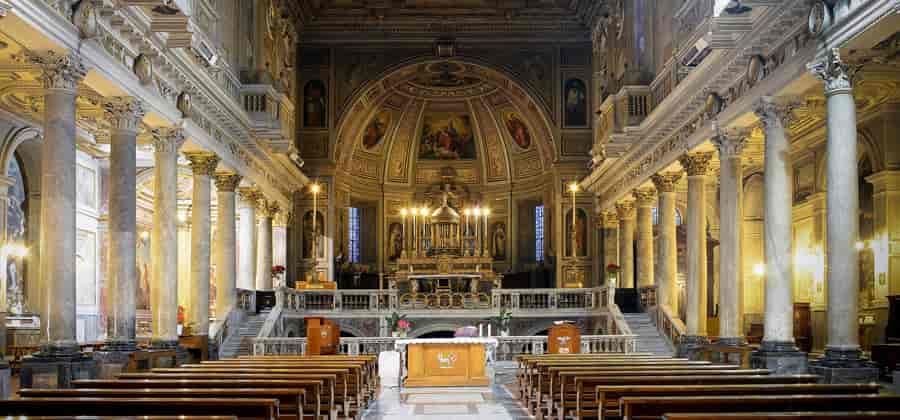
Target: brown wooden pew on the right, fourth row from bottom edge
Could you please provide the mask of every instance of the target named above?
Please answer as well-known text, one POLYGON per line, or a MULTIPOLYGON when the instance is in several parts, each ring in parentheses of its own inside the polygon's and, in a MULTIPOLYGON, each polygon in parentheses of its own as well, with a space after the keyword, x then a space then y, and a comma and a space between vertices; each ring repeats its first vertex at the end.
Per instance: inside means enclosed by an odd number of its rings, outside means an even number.
POLYGON ((816 383, 820 379, 817 375, 667 375, 667 376, 601 376, 584 375, 575 376, 576 395, 574 398, 574 415, 584 407, 596 407, 594 401, 596 389, 599 386, 643 386, 643 385, 725 385, 725 384, 796 384, 816 383), (590 390, 590 392, 585 392, 590 390))

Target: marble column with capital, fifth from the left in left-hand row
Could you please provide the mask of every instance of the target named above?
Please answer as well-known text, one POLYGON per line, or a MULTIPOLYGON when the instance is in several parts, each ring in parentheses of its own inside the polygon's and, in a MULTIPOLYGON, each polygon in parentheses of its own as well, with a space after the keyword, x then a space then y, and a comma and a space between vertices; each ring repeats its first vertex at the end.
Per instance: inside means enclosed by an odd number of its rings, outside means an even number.
POLYGON ((237 256, 234 211, 234 190, 241 176, 234 173, 216 174, 216 232, 219 241, 216 261, 216 320, 225 321, 237 300, 237 256))

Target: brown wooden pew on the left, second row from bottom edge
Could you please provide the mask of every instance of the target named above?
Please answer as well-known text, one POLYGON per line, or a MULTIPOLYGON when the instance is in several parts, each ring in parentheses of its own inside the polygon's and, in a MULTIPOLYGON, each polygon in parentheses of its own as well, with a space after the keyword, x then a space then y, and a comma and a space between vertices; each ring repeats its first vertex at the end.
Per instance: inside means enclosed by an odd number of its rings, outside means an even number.
POLYGON ((5 416, 223 415, 276 420, 271 398, 21 398, 0 401, 5 416))

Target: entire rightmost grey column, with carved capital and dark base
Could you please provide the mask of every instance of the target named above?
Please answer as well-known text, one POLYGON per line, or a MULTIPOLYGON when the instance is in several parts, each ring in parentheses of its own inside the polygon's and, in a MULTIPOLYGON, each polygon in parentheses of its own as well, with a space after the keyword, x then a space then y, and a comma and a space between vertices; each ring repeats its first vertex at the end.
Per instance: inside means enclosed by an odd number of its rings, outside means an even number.
POLYGON ((862 358, 857 307, 859 293, 859 169, 857 167, 856 104, 850 68, 832 49, 810 71, 825 82, 828 155, 826 218, 828 220, 828 343, 825 357, 813 373, 826 382, 875 381, 877 370, 862 358))

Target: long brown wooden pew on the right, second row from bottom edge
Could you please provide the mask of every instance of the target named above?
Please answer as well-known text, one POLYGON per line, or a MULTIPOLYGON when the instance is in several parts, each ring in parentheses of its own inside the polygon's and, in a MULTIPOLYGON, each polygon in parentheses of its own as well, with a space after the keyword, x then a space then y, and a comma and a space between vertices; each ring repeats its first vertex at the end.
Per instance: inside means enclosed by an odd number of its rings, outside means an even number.
POLYGON ((888 411, 900 407, 900 395, 624 397, 621 404, 624 420, 649 420, 671 413, 888 411))

